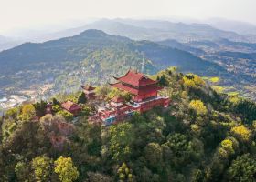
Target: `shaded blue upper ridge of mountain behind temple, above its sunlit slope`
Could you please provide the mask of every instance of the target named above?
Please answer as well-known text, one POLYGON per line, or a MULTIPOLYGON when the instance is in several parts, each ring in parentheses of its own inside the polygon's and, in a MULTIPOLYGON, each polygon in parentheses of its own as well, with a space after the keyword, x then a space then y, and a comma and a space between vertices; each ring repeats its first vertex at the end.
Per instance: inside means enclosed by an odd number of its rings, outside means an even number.
POLYGON ((81 61, 92 52, 112 47, 123 48, 134 53, 144 53, 156 67, 180 66, 186 71, 199 71, 200 68, 214 66, 185 51, 150 41, 133 41, 123 36, 108 35, 100 30, 92 29, 80 35, 59 40, 16 46, 0 53, 0 63, 4 73, 7 74, 11 70, 16 72, 25 66, 41 62, 81 61))

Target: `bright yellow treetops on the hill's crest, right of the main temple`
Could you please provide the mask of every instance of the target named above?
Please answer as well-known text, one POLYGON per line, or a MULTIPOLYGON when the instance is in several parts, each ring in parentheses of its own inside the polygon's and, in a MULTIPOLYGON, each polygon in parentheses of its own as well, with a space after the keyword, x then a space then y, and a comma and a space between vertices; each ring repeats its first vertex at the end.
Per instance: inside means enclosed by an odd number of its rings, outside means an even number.
POLYGON ((184 85, 187 87, 205 86, 205 81, 197 75, 187 74, 183 76, 184 85))

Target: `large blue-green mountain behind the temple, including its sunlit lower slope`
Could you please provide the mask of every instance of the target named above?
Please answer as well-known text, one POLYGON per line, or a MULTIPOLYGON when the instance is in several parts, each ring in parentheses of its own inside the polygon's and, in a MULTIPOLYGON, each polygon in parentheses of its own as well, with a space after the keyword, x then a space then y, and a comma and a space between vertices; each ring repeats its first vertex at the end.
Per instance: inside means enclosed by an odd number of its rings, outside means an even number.
POLYGON ((16 92, 35 85, 55 84, 59 92, 62 88, 78 89, 84 82, 105 82, 129 68, 154 74, 167 66, 208 76, 225 73, 221 66, 186 51, 87 30, 80 35, 40 44, 26 43, 1 52, 0 86, 16 92))

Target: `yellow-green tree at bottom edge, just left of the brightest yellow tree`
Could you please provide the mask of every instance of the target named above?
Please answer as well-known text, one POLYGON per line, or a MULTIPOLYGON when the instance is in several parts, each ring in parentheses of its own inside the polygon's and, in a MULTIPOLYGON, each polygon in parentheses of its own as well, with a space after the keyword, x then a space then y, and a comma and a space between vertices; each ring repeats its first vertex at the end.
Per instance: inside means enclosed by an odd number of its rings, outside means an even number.
POLYGON ((48 181, 51 172, 51 159, 45 156, 36 157, 32 160, 32 169, 39 181, 48 181))

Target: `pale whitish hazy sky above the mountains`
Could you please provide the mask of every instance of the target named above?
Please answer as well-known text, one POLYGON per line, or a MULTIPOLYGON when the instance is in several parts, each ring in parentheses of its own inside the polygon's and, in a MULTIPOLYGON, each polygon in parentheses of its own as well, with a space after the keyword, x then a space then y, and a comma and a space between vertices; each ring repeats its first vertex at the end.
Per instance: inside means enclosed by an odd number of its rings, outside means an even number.
POLYGON ((26 30, 59 31, 99 18, 168 19, 206 22, 223 18, 256 25, 253 0, 0 0, 0 35, 26 30))

